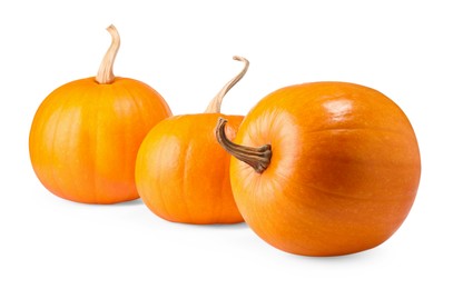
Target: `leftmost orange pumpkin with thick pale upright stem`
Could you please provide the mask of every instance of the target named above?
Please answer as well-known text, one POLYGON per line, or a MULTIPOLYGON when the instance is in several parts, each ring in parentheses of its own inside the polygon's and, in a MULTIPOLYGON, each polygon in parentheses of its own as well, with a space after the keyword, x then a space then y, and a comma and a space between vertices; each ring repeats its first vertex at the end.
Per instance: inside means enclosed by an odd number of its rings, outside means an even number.
POLYGON ((29 150, 36 175, 52 193, 86 203, 137 199, 135 160, 146 133, 171 114, 163 97, 138 80, 115 77, 119 34, 97 77, 52 91, 31 124, 29 150))

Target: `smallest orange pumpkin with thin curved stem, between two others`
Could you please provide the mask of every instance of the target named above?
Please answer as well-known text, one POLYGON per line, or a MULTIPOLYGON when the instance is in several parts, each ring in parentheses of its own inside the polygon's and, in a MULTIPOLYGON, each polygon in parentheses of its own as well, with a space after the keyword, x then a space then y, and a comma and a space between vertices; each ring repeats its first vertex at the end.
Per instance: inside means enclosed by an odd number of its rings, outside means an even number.
POLYGON ((246 73, 232 79, 211 100, 204 113, 175 116, 152 128, 140 146, 136 183, 146 206, 157 216, 183 223, 236 223, 244 221, 229 183, 229 155, 216 141, 219 117, 229 124, 226 134, 236 136, 243 116, 225 116, 220 106, 227 91, 246 73))

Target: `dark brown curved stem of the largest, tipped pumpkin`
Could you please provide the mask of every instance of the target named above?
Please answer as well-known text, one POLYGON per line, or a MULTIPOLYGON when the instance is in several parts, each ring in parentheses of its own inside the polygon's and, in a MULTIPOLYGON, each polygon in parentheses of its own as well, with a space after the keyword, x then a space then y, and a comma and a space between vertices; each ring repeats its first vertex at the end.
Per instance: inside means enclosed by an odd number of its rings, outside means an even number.
POLYGON ((230 141, 225 133, 227 120, 219 118, 216 127, 216 137, 218 143, 236 159, 248 163, 256 172, 263 173, 270 163, 270 144, 264 144, 259 148, 245 147, 230 141))

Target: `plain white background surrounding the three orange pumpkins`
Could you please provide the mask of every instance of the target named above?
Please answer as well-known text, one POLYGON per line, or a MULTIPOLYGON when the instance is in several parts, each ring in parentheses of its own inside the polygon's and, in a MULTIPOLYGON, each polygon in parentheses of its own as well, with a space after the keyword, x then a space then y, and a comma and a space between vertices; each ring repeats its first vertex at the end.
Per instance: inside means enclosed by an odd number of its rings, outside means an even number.
POLYGON ((2 1, 0 288, 453 288, 451 1, 2 1), (246 57, 224 102, 245 114, 280 87, 342 80, 406 112, 421 147, 415 205, 382 246, 336 258, 282 252, 246 225, 164 221, 141 201, 89 206, 36 178, 28 133, 55 88, 97 72, 147 82, 175 114, 205 110, 246 57))

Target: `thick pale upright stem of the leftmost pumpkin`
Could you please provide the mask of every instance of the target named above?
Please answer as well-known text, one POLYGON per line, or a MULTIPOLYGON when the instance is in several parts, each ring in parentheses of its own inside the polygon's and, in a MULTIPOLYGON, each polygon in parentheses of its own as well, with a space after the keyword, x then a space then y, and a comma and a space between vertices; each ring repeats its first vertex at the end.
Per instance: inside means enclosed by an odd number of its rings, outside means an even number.
POLYGON ((111 36, 111 44, 109 49, 107 50, 106 54, 104 56, 102 62, 100 63, 98 74, 96 76, 96 81, 99 84, 109 84, 114 82, 115 76, 114 76, 114 62, 115 58, 118 53, 119 44, 120 44, 120 39, 119 39, 119 33, 118 30, 115 28, 115 26, 109 26, 107 28, 107 31, 111 36))

